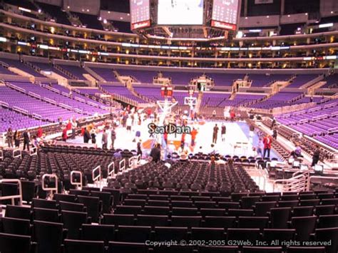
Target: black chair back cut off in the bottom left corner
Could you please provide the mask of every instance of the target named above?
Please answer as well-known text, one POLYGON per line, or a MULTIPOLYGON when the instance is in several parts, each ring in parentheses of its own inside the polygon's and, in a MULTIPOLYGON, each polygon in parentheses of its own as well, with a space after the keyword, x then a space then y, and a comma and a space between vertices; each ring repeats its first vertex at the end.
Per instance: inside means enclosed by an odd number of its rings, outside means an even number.
POLYGON ((32 248, 29 236, 0 233, 1 253, 31 253, 32 248))

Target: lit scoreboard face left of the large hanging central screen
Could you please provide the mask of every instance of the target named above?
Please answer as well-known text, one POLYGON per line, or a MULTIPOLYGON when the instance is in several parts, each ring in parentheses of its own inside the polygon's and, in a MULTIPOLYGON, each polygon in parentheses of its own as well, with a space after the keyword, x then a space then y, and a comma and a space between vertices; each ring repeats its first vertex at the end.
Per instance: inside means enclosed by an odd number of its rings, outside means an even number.
POLYGON ((150 0, 130 0, 131 29, 150 26, 150 0))

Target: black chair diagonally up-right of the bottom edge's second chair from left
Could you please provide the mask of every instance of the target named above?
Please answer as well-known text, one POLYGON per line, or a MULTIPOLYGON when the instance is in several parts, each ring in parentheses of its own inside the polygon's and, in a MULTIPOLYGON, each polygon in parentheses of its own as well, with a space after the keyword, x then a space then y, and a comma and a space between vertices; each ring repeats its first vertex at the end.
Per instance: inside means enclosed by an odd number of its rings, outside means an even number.
POLYGON ((71 211, 61 211, 62 213, 62 222, 64 228, 68 229, 67 238, 68 239, 79 239, 82 224, 88 223, 88 217, 86 212, 71 212, 71 211))

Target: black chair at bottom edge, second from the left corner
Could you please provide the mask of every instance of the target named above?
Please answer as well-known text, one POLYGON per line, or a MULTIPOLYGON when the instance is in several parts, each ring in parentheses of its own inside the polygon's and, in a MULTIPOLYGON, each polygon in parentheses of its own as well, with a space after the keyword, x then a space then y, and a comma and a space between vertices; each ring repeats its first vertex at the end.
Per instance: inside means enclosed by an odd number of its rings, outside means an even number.
POLYGON ((61 253, 63 232, 62 223, 34 221, 34 242, 37 242, 37 253, 61 253))

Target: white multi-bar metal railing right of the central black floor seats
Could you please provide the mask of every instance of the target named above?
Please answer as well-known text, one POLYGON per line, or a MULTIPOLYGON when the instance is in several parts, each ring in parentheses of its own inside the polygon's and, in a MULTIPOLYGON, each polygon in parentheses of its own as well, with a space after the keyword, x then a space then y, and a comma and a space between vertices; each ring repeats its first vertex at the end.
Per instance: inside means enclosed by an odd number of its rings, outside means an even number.
POLYGON ((277 183, 282 184, 282 192, 304 192, 307 190, 309 172, 295 172, 290 179, 275 180, 272 191, 275 192, 277 183))

